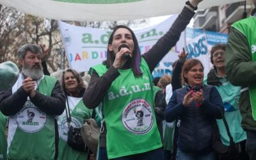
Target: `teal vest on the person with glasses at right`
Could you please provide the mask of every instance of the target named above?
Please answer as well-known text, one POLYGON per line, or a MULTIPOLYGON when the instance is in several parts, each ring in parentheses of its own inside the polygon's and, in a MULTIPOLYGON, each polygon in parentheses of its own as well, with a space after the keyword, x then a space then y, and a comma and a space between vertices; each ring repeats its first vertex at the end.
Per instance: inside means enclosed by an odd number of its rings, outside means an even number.
MULTIPOLYGON (((239 111, 240 86, 233 86, 230 82, 216 86, 221 95, 223 106, 225 108, 225 118, 228 123, 230 134, 235 143, 246 140, 246 132, 241 127, 242 116, 239 111)), ((223 120, 216 120, 221 140, 225 145, 229 145, 229 138, 223 120)))

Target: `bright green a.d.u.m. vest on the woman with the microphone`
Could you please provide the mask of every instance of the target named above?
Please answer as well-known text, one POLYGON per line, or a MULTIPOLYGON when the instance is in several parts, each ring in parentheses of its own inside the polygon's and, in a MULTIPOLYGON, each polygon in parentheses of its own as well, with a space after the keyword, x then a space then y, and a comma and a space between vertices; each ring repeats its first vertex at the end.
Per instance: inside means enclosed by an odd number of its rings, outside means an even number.
MULTIPOLYGON (((142 58, 143 75, 135 77, 131 68, 118 70, 120 76, 112 82, 102 100, 107 127, 108 159, 140 154, 162 147, 154 115, 154 95, 151 74, 142 58)), ((108 71, 104 65, 92 67, 99 76, 108 71)))

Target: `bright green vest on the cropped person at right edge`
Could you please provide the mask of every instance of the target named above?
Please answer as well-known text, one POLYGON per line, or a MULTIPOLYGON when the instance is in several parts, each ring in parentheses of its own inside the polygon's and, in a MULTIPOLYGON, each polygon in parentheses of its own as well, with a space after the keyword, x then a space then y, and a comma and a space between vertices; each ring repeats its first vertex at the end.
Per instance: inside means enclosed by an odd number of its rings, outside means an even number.
MULTIPOLYGON (((256 61, 256 17, 251 16, 247 19, 239 20, 232 24, 232 27, 241 31, 241 33, 246 36, 249 44, 248 47, 250 47, 252 53, 252 61, 256 61)), ((252 105, 252 116, 253 120, 256 120, 256 83, 250 84, 248 87, 252 105)))

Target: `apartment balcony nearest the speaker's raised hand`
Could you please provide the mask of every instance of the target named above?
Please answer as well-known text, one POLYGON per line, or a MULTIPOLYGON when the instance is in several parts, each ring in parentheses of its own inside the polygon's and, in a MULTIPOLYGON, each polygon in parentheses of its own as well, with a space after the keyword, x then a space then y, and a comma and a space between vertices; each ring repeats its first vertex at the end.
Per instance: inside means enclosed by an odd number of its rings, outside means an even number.
POLYGON ((217 11, 214 8, 199 10, 194 18, 194 28, 216 31, 217 11))

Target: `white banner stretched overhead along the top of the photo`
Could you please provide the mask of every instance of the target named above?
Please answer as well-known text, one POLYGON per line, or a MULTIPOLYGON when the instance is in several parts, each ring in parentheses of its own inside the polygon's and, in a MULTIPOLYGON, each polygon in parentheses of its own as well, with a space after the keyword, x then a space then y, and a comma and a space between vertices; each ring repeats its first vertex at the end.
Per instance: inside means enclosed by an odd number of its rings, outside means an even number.
MULTIPOLYGON (((187 0, 0 0, 36 17, 58 20, 132 20, 180 13, 187 0)), ((242 0, 204 0, 199 9, 242 0)))

